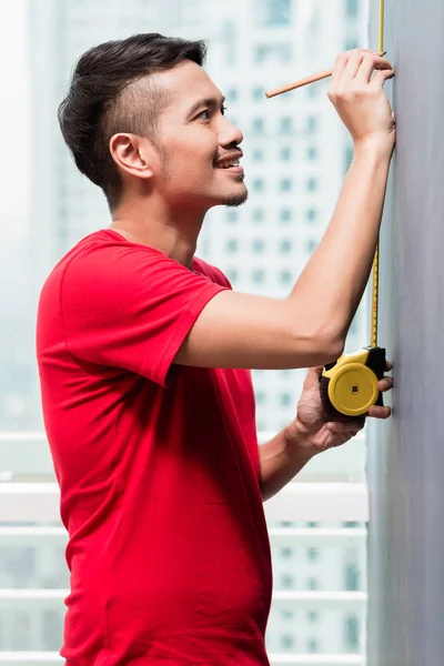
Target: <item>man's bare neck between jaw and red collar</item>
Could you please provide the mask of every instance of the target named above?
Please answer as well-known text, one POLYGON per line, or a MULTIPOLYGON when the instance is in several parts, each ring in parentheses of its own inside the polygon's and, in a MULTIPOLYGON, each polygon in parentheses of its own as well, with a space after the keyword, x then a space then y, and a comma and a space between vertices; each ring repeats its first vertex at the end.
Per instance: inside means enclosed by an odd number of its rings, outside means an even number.
POLYGON ((110 229, 130 242, 155 248, 176 262, 193 270, 193 256, 205 212, 182 208, 174 211, 164 202, 131 201, 119 205, 110 229))

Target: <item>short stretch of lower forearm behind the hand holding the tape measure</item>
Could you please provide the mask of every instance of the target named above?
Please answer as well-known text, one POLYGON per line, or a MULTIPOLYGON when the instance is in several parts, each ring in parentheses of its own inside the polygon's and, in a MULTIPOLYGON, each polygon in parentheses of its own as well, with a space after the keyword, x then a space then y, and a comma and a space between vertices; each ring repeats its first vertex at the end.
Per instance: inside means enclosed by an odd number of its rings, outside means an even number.
POLYGON ((289 438, 285 433, 284 428, 259 447, 264 502, 283 488, 314 455, 299 436, 289 438))

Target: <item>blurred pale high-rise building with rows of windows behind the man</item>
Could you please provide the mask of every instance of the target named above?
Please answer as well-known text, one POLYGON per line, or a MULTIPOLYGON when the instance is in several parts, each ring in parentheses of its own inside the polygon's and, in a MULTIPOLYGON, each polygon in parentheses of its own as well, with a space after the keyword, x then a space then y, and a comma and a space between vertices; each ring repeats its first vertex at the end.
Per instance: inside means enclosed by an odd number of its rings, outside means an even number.
MULTIPOLYGON (((286 296, 332 216, 352 147, 327 100, 329 80, 271 100, 264 91, 332 67, 340 51, 365 47, 366 14, 367 2, 357 0, 32 0, 33 297, 68 249, 110 222, 103 194, 78 173, 61 139, 58 104, 82 52, 134 32, 209 40, 206 69, 226 97, 228 117, 244 132, 250 198, 240 208, 209 213, 198 254, 222 269, 236 290, 286 296)), ((366 321, 362 311, 347 349, 369 344, 366 321)), ((253 373, 258 430, 276 432, 294 416, 304 374, 253 373)), ((37 401, 37 383, 33 395, 37 401)), ((57 578, 51 586, 67 584, 60 548, 48 545, 43 554, 29 548, 23 566, 9 551, 0 549, 3 585, 40 586, 48 575, 57 578)), ((364 554, 361 545, 273 544, 275 588, 364 588, 359 574, 364 554)), ((59 647, 60 615, 43 617, 33 620, 43 627, 41 638, 22 649, 59 647)), ((13 649, 13 636, 24 635, 26 622, 10 617, 7 625, 2 619, 1 649, 13 649)), ((361 648, 360 622, 357 614, 336 609, 324 615, 280 607, 272 613, 269 649, 355 652, 361 648)))

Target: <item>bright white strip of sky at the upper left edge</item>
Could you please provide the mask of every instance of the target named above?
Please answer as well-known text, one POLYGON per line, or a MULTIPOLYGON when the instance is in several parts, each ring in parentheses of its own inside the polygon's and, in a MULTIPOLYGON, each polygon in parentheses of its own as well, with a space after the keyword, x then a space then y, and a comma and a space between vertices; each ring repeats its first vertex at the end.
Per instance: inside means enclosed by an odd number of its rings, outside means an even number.
POLYGON ((26 226, 29 206, 29 71, 27 67, 27 4, 32 0, 0 2, 0 128, 2 159, 0 228, 11 235, 26 226), (13 225, 11 219, 14 220, 13 225))

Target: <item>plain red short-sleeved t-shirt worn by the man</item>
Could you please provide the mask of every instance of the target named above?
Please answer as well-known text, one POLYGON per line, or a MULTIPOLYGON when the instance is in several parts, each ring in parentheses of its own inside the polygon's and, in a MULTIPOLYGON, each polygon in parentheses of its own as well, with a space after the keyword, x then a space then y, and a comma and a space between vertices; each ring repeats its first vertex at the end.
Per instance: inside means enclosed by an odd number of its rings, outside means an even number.
POLYGON ((251 374, 173 365, 230 289, 113 231, 48 278, 37 349, 75 666, 263 666, 271 558, 251 374))

